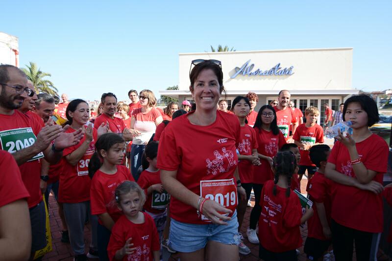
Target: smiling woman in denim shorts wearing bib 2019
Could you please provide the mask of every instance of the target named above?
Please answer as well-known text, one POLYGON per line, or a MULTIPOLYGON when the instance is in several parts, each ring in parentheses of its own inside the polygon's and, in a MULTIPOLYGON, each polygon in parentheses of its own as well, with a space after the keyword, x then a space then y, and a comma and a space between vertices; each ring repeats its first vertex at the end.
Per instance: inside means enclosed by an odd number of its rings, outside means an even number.
POLYGON ((238 261, 237 190, 246 197, 237 167, 240 124, 236 116, 217 110, 224 89, 221 62, 194 60, 192 65, 196 110, 168 124, 158 149, 157 168, 171 195, 169 244, 185 261, 238 261))

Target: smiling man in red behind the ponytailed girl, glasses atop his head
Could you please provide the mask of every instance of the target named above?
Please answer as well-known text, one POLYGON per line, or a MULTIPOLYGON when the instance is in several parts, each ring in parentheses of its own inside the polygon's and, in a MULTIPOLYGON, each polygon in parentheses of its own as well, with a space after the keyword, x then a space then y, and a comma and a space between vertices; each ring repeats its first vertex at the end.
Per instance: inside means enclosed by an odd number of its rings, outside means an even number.
POLYGON ((125 141, 132 140, 132 133, 126 128, 122 119, 114 116, 117 110, 117 97, 111 92, 103 93, 101 96, 103 113, 94 121, 94 128, 98 130, 99 126, 107 125, 109 130, 117 133, 125 141))

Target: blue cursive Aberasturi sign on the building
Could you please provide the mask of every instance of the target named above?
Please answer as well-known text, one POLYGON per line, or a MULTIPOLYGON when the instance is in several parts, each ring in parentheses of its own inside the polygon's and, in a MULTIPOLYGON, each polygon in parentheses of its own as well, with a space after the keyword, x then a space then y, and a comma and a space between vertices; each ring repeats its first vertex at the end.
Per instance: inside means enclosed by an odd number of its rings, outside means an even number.
POLYGON ((289 68, 281 68, 280 63, 273 66, 269 70, 263 71, 260 68, 257 68, 256 70, 253 70, 254 64, 250 64, 250 60, 248 60, 244 65, 241 67, 236 67, 234 73, 230 78, 234 79, 237 77, 237 75, 242 74, 242 75, 247 75, 247 76, 271 76, 271 75, 276 75, 276 76, 284 76, 284 75, 292 75, 293 68, 294 66, 290 66, 289 68))

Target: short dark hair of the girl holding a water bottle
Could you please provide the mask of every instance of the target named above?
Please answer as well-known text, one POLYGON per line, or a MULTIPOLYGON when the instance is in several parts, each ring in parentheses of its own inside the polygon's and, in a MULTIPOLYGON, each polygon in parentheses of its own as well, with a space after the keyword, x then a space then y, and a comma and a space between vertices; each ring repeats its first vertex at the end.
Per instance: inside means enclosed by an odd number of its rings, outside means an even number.
POLYGON ((359 103, 362 109, 366 111, 368 114, 368 127, 380 121, 377 104, 368 94, 353 95, 344 102, 343 121, 345 121, 344 114, 346 114, 347 106, 350 103, 359 103))

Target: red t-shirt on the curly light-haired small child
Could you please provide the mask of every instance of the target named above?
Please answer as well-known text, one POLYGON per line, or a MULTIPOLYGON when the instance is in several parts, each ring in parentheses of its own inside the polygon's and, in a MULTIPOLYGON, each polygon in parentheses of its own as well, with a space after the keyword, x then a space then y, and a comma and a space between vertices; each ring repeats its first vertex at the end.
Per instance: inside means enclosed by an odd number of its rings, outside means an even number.
POLYGON ((110 260, 116 260, 114 258, 116 252, 124 247, 125 241, 129 238, 132 238, 130 243, 136 250, 132 254, 124 256, 123 261, 153 260, 152 251, 159 251, 161 244, 154 220, 147 213, 143 213, 143 215, 145 222, 142 224, 133 223, 125 215, 121 216, 114 224, 107 246, 110 260))

